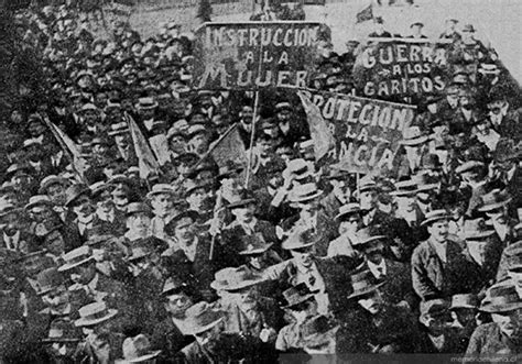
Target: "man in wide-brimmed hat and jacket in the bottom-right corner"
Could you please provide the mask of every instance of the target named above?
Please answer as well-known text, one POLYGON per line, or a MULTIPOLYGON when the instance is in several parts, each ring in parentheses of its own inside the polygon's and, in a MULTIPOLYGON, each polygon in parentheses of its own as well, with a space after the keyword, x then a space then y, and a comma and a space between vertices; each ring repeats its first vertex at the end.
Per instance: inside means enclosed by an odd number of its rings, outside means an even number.
POLYGON ((491 286, 479 309, 491 313, 493 322, 483 323, 475 330, 466 356, 520 354, 522 300, 513 285, 499 283, 491 286))

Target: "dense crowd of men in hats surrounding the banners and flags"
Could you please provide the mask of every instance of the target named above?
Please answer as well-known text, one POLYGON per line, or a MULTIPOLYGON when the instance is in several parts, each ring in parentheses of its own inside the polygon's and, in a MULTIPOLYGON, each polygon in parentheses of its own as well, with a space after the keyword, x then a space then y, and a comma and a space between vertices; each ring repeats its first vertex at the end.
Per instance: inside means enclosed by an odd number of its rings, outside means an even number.
MULTIPOLYGON (((291 92, 253 118, 252 92, 192 89, 175 23, 100 40, 65 7, 14 22, 44 92, 2 121, 1 363, 520 357, 520 89, 472 25, 448 20, 459 70, 416 104, 398 169, 360 175, 316 161, 291 92), (130 120, 166 143, 155 173, 130 120), (232 125, 250 166, 208 154, 232 125)), ((311 88, 356 92, 358 46, 323 46, 311 88)))

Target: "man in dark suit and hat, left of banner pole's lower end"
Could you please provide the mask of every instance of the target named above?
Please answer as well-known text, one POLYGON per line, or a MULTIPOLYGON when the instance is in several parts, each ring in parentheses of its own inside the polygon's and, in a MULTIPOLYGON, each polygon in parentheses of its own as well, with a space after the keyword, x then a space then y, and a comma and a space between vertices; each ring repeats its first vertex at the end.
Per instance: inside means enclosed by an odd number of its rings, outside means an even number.
POLYGON ((213 251, 210 236, 197 229, 197 218, 194 211, 183 211, 166 224, 165 234, 173 244, 162 253, 162 264, 170 275, 193 284, 205 297, 210 297, 214 272, 222 264, 220 246, 215 243, 213 251))

